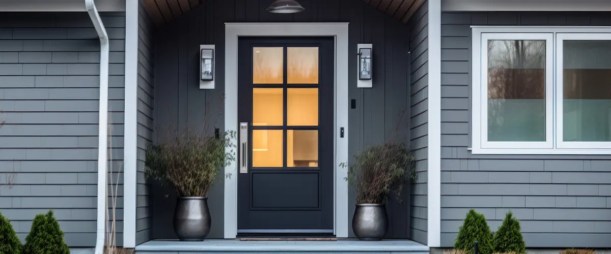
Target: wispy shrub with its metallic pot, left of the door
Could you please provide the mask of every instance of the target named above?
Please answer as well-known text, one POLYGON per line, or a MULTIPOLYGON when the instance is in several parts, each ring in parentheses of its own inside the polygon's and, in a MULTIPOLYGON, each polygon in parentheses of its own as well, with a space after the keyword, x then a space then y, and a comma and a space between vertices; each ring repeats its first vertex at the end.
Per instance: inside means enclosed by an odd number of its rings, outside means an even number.
MULTIPOLYGON (((221 112, 219 109, 217 119, 221 112)), ((185 124, 177 129, 172 123, 163 128, 159 144, 147 147, 147 177, 172 186, 178 193, 173 222, 181 241, 203 241, 208 236, 212 223, 208 191, 221 168, 236 159, 233 139, 237 132, 213 133, 214 122, 208 124, 211 116, 207 112, 203 125, 196 128, 185 124)))

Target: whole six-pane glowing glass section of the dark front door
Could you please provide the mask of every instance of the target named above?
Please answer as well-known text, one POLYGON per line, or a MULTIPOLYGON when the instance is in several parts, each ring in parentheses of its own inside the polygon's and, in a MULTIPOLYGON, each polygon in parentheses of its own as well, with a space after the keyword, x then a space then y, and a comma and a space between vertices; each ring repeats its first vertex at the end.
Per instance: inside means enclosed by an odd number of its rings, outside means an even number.
POLYGON ((253 75, 252 166, 318 168, 318 48, 284 49, 287 65, 280 70, 270 70, 270 66, 282 64, 278 59, 283 57, 283 48, 253 51, 271 51, 268 59, 274 63, 265 64, 265 57, 253 57, 253 65, 266 68, 260 68, 258 77, 254 69, 253 75), (273 75, 284 71, 286 82, 273 75))

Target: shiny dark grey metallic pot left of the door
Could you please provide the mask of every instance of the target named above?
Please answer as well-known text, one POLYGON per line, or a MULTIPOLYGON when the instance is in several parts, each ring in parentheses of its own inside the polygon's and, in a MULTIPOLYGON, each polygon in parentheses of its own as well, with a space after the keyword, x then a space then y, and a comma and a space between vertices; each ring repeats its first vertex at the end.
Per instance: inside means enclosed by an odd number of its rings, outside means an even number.
POLYGON ((174 210, 174 232, 180 241, 203 241, 210 233, 207 197, 178 197, 174 210))

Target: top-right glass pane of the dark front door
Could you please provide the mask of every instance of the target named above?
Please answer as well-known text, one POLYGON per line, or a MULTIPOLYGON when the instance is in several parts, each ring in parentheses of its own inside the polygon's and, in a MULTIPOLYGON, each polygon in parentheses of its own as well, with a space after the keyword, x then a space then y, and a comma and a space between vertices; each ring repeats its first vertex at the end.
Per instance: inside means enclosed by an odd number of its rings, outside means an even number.
POLYGON ((287 48, 287 82, 318 83, 318 47, 287 48))

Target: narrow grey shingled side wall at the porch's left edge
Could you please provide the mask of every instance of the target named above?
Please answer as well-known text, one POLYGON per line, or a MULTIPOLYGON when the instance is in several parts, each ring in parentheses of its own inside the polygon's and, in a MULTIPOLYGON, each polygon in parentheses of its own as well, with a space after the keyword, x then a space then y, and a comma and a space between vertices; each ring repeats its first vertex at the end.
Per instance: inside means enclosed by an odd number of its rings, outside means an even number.
POLYGON ((137 68, 137 162, 136 162, 136 244, 150 240, 153 209, 149 186, 144 174, 146 146, 153 141, 153 23, 143 6, 138 4, 138 68, 137 68))

